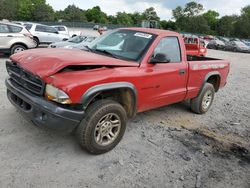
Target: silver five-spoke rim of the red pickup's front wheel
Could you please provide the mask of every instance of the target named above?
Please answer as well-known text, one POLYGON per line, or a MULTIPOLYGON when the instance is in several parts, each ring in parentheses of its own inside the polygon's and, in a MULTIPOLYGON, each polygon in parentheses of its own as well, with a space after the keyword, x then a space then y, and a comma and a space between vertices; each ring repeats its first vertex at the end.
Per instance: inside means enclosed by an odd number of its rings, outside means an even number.
POLYGON ((121 120, 115 113, 103 116, 95 127, 95 141, 101 146, 114 142, 121 130, 121 120))

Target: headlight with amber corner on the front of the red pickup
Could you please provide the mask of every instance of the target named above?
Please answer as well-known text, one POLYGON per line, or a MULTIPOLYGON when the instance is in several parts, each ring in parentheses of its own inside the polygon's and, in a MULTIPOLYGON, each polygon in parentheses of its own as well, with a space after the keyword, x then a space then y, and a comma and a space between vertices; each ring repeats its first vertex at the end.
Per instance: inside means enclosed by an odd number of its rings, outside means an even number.
POLYGON ((69 96, 62 90, 47 84, 45 90, 45 96, 47 99, 61 103, 61 104, 71 104, 72 101, 69 96))

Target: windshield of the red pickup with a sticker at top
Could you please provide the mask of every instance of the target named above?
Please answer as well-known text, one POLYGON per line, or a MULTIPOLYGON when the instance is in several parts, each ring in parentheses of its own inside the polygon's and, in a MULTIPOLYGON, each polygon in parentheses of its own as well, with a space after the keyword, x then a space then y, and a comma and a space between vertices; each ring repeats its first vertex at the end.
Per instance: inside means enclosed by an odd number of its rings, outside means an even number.
POLYGON ((114 30, 107 32, 89 44, 92 52, 119 59, 139 61, 156 36, 133 30, 114 30))

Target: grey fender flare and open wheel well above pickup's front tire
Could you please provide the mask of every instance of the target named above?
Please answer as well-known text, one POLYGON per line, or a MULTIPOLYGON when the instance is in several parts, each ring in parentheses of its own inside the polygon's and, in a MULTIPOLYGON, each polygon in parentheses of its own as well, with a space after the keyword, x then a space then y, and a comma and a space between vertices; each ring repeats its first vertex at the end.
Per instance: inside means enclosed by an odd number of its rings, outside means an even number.
POLYGON ((89 88, 81 97, 83 109, 95 99, 111 98, 119 102, 126 110, 128 117, 134 117, 137 112, 137 90, 129 82, 114 82, 99 84, 89 88))

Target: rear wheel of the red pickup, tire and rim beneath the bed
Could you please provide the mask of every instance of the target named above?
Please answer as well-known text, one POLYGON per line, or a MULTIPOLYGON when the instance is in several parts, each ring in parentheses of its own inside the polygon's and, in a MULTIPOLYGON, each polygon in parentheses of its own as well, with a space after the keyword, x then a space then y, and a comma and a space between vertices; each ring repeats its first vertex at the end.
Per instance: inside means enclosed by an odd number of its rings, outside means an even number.
POLYGON ((196 98, 191 99, 191 110, 197 114, 206 113, 213 103, 214 94, 215 94, 214 86, 210 83, 205 83, 200 94, 196 98), (210 97, 209 103, 205 102, 208 101, 208 98, 205 98, 207 97, 208 94, 210 97))

